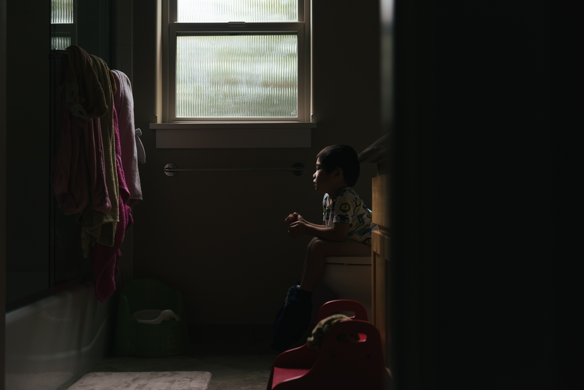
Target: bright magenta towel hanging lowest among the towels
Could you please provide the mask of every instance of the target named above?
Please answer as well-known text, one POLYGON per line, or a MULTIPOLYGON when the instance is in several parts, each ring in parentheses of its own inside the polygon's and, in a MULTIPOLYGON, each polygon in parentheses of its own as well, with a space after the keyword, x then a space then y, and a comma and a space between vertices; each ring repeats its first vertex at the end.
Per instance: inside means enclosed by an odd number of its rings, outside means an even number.
POLYGON ((117 275, 119 268, 117 267, 117 260, 121 258, 120 246, 124 241, 124 234, 126 229, 134 223, 132 215, 130 214, 130 207, 127 206, 130 200, 130 192, 126 186, 126 179, 124 177, 124 170, 121 165, 121 148, 120 148, 120 133, 117 126, 116 109, 113 109, 113 127, 115 134, 115 148, 116 148, 116 168, 117 180, 119 185, 119 207, 120 207, 120 221, 116 225, 116 235, 114 236, 114 244, 112 247, 105 246, 99 242, 95 244, 93 252, 93 271, 95 275, 95 293, 100 302, 106 300, 107 297, 113 294, 116 290, 116 282, 114 277, 117 275))

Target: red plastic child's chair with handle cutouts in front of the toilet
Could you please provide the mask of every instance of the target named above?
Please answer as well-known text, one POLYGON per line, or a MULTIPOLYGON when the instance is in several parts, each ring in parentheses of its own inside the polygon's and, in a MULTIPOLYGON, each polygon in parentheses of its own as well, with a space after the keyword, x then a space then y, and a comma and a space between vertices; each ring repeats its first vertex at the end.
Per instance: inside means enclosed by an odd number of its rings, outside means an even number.
POLYGON ((317 323, 338 311, 353 311, 353 321, 337 323, 323 337, 320 350, 304 344, 281 353, 272 365, 267 390, 383 388, 381 339, 367 322, 366 309, 357 301, 326 302, 318 311, 317 323), (359 333, 359 341, 340 342, 336 339, 340 333, 359 333))

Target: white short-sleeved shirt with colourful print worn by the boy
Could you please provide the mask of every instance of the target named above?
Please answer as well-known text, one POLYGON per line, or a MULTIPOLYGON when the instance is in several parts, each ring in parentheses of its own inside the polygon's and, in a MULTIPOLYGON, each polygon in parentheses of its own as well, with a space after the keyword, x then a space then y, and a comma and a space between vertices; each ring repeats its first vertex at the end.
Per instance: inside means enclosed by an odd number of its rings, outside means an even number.
POLYGON ((345 187, 329 203, 329 194, 325 194, 322 199, 325 226, 332 228, 335 222, 350 224, 347 238, 371 245, 371 231, 377 230, 377 225, 371 222, 371 210, 359 199, 359 195, 351 187, 345 187))

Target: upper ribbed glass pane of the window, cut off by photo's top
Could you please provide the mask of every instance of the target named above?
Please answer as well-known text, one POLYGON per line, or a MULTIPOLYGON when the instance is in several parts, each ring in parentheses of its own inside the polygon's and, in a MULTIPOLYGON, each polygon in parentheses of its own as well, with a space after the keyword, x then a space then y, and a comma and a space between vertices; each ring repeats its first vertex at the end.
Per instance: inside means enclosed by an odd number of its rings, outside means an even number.
POLYGON ((296 22, 298 0, 178 0, 178 22, 296 22))

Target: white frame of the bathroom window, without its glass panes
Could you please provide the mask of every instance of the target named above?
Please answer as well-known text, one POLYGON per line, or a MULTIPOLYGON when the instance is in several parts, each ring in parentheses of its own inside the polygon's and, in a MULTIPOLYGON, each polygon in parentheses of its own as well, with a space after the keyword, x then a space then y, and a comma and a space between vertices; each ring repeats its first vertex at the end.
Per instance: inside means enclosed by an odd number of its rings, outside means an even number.
MULTIPOLYGON (((298 22, 178 23, 176 0, 164 0, 162 12, 162 122, 163 123, 277 123, 311 121, 310 1, 298 1, 298 22), (168 10, 168 13, 164 12, 168 10), (165 15, 166 13, 166 15, 165 15), (165 17, 166 16, 166 17, 165 17), (168 26, 164 26, 168 20, 168 26), (168 36, 165 37, 165 32, 168 36), (297 117, 176 117, 176 37, 185 33, 294 33, 298 36, 297 117), (166 65, 166 66, 165 66, 166 65), (166 69, 165 69, 166 68, 166 69)), ((241 22, 234 20, 232 22, 241 22)))

